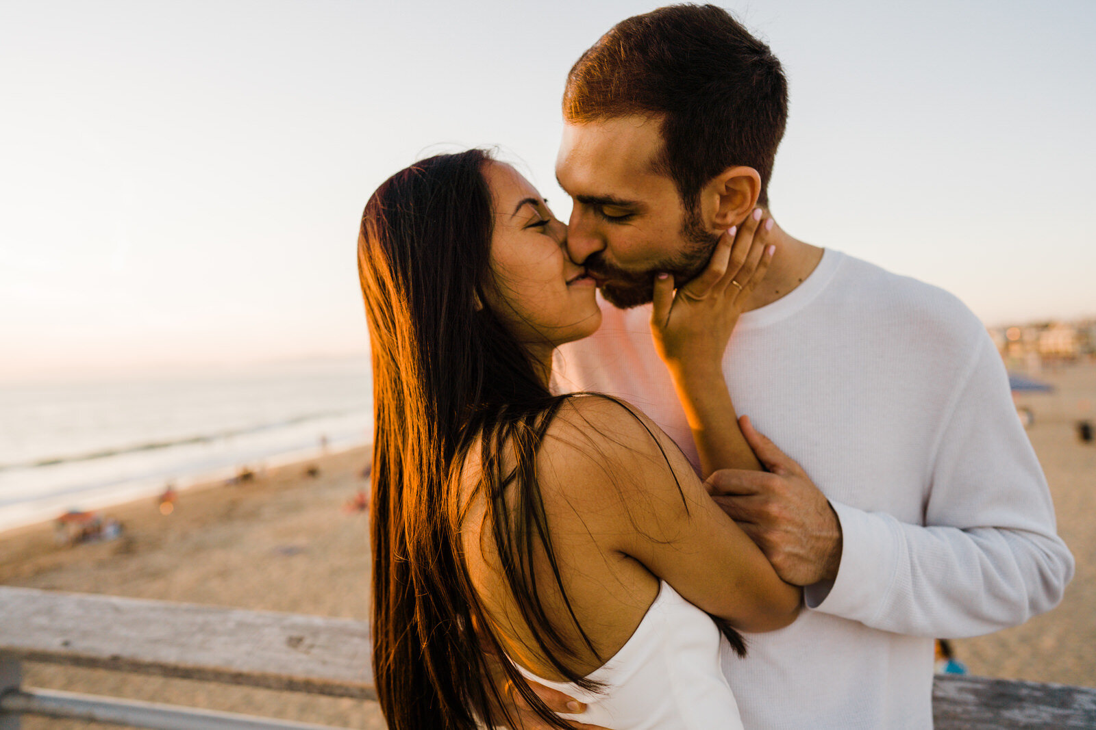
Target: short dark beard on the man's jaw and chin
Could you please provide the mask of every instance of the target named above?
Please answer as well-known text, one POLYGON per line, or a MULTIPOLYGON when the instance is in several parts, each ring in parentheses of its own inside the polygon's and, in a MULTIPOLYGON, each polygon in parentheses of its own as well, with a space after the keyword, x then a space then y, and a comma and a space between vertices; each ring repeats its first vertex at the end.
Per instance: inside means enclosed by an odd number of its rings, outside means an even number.
POLYGON ((674 286, 680 287, 700 274, 708 266, 719 234, 705 230, 697 210, 690 210, 682 222, 680 232, 684 246, 676 256, 642 271, 623 269, 608 264, 604 251, 592 254, 584 262, 586 269, 604 282, 600 285, 602 297, 617 309, 627 310, 647 304, 654 297, 654 275, 666 271, 674 276, 674 286))

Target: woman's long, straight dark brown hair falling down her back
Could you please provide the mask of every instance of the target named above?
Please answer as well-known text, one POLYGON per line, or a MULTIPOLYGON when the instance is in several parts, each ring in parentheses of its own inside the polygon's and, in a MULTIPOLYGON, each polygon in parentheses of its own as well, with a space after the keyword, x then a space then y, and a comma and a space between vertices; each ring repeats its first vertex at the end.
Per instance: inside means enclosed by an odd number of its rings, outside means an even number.
MULTIPOLYGON (((388 178, 369 198, 358 275, 373 349, 373 646, 381 710, 395 730, 488 727, 510 720, 487 653, 504 651, 472 587, 460 540, 459 472, 479 444, 483 529, 534 640, 568 681, 597 656, 574 647, 534 581, 547 558, 570 611, 537 487, 544 434, 569 396, 552 395, 527 350, 481 305, 491 287, 492 198, 483 150, 439 154, 388 178)), ((468 496, 464 495, 467 503, 468 496)), ((729 627, 722 626, 724 634, 729 627)), ((741 638, 728 634, 737 647, 741 638)), ((552 715, 506 660, 512 686, 552 715)))

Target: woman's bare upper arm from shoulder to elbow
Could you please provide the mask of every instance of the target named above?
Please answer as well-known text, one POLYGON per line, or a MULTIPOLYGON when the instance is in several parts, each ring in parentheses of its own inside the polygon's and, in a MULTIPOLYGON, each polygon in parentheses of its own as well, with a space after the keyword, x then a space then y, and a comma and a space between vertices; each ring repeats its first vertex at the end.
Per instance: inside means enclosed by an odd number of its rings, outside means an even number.
POLYGON ((780 580, 673 440, 638 410, 573 399, 553 421, 538 468, 546 500, 581 514, 603 552, 638 560, 694 605, 746 631, 795 619, 800 589, 780 580))

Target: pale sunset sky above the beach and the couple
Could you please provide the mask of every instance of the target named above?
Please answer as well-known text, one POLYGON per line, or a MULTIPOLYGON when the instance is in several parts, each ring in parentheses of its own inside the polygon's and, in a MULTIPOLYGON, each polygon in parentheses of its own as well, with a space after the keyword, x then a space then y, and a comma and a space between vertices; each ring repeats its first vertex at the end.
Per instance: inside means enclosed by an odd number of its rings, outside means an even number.
MULTIPOLYGON (((373 189, 499 144, 566 220, 566 73, 658 4, 0 0, 0 378, 365 351, 373 189)), ((789 233, 1096 315, 1096 3, 724 7, 789 78, 789 233)))

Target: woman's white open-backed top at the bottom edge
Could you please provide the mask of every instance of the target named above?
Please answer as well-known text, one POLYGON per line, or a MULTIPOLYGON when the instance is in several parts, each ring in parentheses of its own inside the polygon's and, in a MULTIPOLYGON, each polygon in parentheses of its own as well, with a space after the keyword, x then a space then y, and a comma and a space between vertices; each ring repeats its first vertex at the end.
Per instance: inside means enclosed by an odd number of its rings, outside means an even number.
POLYGON ((739 706, 720 667, 720 645, 726 641, 706 613, 661 581, 636 633, 589 675, 604 684, 603 693, 517 669, 586 704, 585 712, 562 718, 613 730, 742 730, 739 706))

